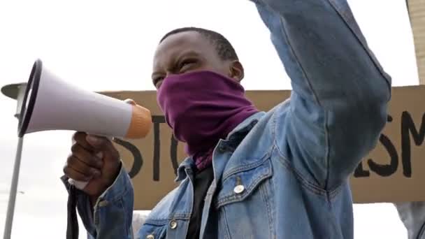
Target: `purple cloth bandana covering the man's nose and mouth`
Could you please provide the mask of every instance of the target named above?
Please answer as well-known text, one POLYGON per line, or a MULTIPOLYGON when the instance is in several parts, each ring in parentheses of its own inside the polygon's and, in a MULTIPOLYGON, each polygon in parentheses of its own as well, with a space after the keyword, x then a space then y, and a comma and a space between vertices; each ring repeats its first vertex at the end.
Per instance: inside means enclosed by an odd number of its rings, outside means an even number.
POLYGON ((212 71, 168 76, 157 101, 175 138, 187 143, 185 150, 199 169, 210 165, 220 138, 257 113, 242 85, 212 71))

